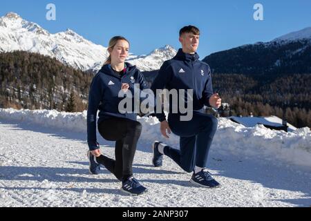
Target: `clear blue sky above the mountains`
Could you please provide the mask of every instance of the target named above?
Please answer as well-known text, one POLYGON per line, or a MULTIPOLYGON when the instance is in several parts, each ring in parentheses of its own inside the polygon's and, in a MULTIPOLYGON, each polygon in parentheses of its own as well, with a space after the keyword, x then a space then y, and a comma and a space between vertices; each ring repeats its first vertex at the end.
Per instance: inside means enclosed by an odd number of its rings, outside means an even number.
POLYGON ((111 37, 123 35, 135 55, 166 44, 179 48, 178 31, 189 24, 201 30, 201 58, 311 26, 310 0, 1 0, 0 4, 0 16, 17 12, 49 32, 70 28, 95 44, 107 46, 111 37), (46 20, 48 3, 56 6, 56 21, 46 20), (263 5, 263 21, 253 19, 255 3, 263 5))

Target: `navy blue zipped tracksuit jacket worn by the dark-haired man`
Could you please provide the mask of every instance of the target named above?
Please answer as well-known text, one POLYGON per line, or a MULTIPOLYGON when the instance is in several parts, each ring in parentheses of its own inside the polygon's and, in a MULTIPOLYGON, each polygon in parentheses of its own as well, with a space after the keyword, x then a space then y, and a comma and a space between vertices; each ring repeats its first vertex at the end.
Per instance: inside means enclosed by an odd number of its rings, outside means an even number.
MULTIPOLYGON (((209 65, 200 61, 197 53, 185 54, 179 49, 173 59, 164 62, 151 86, 155 94, 157 89, 163 88, 193 89, 194 111, 201 111, 204 105, 209 106, 209 97, 213 95, 209 65)), ((171 99, 169 103, 171 107, 171 99)), ((164 113, 156 113, 156 117, 160 122, 165 120, 164 113)))

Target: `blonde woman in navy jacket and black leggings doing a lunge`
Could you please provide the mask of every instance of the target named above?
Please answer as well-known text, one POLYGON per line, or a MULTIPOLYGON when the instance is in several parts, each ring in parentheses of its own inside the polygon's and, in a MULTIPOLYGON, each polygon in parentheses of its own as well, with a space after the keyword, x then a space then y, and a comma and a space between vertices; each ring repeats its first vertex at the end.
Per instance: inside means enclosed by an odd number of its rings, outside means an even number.
POLYGON ((109 58, 91 83, 88 97, 87 133, 88 160, 90 172, 98 174, 100 164, 122 182, 122 191, 139 195, 147 191, 133 177, 133 158, 142 125, 135 113, 120 113, 118 110, 120 90, 133 90, 133 84, 140 84, 140 90, 147 88, 144 77, 135 66, 126 63, 129 55, 129 41, 124 37, 113 37, 109 42, 109 58), (96 138, 97 128, 105 140, 115 141, 115 160, 102 155, 96 138))

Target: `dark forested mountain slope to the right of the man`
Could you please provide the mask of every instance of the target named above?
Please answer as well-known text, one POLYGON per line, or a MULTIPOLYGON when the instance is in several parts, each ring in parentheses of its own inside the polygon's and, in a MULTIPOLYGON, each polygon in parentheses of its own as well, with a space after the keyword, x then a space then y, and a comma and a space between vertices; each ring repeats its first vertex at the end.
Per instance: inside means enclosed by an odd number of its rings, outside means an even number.
POLYGON ((284 75, 311 73, 311 28, 269 42, 247 44, 203 59, 213 73, 284 75))

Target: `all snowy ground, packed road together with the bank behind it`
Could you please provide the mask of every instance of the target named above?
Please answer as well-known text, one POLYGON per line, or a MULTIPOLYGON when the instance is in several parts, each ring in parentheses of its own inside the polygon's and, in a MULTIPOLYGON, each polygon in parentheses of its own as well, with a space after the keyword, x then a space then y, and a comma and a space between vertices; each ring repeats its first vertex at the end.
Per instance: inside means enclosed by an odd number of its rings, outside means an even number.
MULTIPOLYGON (((178 148, 179 138, 161 137, 154 117, 138 121, 133 172, 149 191, 132 197, 106 169, 89 174, 86 111, 0 109, 0 206, 311 206, 310 128, 285 133, 218 119, 207 168, 221 187, 205 189, 169 157, 152 166, 153 140, 178 148)), ((114 157, 114 143, 97 138, 114 157)))

